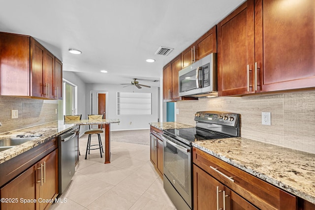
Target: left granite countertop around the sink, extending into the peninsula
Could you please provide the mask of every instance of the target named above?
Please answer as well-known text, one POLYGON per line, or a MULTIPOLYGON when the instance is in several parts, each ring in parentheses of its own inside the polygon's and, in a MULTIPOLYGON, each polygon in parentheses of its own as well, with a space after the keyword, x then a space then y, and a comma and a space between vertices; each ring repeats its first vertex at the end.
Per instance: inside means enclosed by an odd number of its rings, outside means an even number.
POLYGON ((36 147, 39 144, 42 144, 51 138, 59 136, 60 134, 70 130, 71 128, 77 125, 86 125, 86 124, 109 124, 109 123, 118 123, 118 119, 104 119, 104 120, 71 120, 71 121, 53 121, 48 122, 32 127, 22 128, 19 130, 14 130, 10 132, 5 132, 0 134, 0 141, 8 138, 16 138, 17 135, 25 135, 27 137, 38 137, 31 141, 25 142, 23 144, 14 146, 11 149, 4 150, 0 152, 0 164, 27 151, 36 147))

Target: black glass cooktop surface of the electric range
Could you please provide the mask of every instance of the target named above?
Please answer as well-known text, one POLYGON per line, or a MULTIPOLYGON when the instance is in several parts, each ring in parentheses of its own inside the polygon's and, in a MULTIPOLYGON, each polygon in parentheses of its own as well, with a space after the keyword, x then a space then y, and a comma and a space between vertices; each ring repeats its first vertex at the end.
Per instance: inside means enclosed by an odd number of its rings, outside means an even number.
POLYGON ((191 142, 209 140, 209 139, 222 139, 231 136, 223 135, 211 131, 202 130, 199 128, 179 128, 179 129, 166 129, 164 133, 185 143, 191 145, 191 142))

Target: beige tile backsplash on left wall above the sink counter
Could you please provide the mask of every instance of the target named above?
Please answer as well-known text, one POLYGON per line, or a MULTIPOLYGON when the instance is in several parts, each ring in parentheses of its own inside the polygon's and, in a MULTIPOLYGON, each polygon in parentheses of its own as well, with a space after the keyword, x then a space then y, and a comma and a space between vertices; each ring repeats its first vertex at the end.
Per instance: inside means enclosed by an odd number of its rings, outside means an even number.
POLYGON ((57 100, 0 96, 0 133, 58 120, 57 100), (11 119, 11 110, 18 118, 11 119))

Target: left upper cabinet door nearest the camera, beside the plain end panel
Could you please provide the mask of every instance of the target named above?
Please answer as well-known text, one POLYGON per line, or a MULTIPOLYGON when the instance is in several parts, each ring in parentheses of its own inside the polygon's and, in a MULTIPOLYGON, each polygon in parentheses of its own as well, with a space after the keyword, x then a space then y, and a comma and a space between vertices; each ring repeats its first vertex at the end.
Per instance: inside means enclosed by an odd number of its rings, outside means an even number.
POLYGON ((31 96, 46 97, 44 84, 45 48, 31 38, 31 96))

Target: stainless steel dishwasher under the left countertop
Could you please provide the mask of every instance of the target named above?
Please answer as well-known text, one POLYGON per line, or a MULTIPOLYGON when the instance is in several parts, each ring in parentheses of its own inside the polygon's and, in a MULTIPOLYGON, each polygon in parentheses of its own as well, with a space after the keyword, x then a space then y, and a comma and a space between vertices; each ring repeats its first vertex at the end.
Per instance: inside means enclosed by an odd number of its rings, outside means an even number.
POLYGON ((79 138, 79 127, 61 134, 58 137, 58 157, 59 157, 59 194, 62 194, 64 189, 70 183, 74 175, 75 167, 75 139, 79 138))

